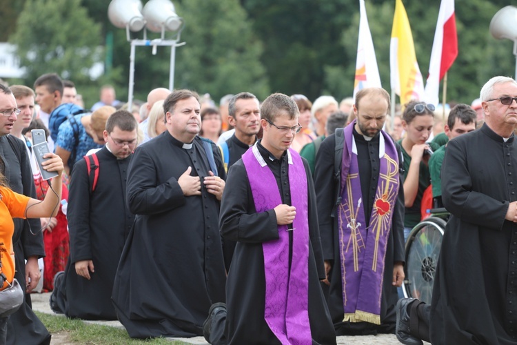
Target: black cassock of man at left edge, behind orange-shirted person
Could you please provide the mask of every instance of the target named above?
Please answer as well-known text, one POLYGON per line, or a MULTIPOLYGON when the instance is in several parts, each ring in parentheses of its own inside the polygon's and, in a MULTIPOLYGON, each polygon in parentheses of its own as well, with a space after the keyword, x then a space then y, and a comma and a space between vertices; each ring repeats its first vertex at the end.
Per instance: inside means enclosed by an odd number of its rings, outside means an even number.
MULTIPOLYGON (((0 155, 3 157, 6 169, 4 175, 14 192, 35 199, 36 188, 34 187, 26 144, 15 137, 10 139, 7 135, 0 137, 0 155), (9 144, 8 140, 10 139, 14 139, 12 143, 15 148, 17 147, 15 150, 9 144), (21 161, 16 152, 19 152, 21 161)), ((41 222, 39 219, 13 219, 13 221, 12 245, 16 263, 14 278, 18 279, 21 286, 26 286, 25 259, 33 255, 37 257, 45 256, 41 222)), ((40 279, 43 279, 43 274, 40 279)), ((26 294, 25 298, 26 303, 22 304, 18 311, 9 317, 7 344, 50 344, 50 333, 32 311, 30 294, 26 294)))

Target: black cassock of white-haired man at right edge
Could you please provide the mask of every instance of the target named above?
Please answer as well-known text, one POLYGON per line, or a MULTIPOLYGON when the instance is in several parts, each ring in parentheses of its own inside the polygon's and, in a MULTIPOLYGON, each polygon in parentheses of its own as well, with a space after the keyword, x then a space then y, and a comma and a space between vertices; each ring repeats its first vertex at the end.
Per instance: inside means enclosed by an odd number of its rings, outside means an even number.
POLYGON ((486 124, 449 141, 442 199, 451 217, 436 268, 433 344, 517 344, 517 141, 486 124))

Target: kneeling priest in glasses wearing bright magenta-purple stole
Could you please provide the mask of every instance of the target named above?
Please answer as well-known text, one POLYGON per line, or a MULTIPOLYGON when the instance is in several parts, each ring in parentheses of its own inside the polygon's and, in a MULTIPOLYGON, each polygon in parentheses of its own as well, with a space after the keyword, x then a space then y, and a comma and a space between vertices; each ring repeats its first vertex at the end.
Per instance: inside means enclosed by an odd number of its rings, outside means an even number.
POLYGON ((325 270, 311 172, 290 149, 298 116, 290 97, 267 97, 263 139, 228 175, 219 221, 224 239, 237 242, 226 287, 228 344, 336 344, 320 286, 325 270))

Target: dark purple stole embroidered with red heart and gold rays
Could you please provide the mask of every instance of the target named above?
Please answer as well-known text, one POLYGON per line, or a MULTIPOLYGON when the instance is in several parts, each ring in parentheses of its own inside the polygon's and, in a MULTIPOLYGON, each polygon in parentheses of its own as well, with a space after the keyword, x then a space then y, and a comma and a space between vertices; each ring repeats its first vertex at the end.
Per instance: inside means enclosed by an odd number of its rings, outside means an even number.
MULTIPOLYGON (((398 196, 398 153, 384 131, 379 138, 380 171, 369 227, 365 228, 361 179, 353 129, 344 129, 341 204, 338 206, 339 253, 343 286, 343 321, 381 324, 384 263, 398 196)), ((370 202, 366 200, 365 202, 370 202)))

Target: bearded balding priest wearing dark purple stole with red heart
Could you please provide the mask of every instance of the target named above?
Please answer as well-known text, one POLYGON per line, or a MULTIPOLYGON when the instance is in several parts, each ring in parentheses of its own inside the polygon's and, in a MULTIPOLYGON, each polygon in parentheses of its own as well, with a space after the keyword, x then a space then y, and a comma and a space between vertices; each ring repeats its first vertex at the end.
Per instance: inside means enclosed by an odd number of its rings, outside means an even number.
POLYGON ((337 335, 395 331, 397 286, 404 279, 404 192, 400 147, 382 130, 389 103, 382 88, 357 92, 356 120, 327 137, 316 155, 327 303, 337 335), (338 135, 343 153, 336 159, 338 135))

